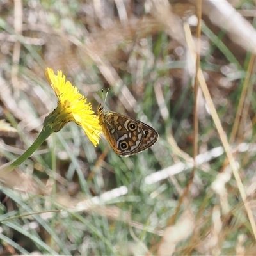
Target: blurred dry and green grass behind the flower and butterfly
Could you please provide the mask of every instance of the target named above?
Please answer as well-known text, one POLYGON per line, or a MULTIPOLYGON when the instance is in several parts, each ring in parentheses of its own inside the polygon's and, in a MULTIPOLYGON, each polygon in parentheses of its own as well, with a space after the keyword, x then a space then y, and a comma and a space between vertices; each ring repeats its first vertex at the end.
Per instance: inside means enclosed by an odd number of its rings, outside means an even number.
POLYGON ((255 10, 255 1, 1 1, 1 165, 57 106, 47 67, 94 111, 109 89, 105 108, 151 125, 159 140, 120 157, 74 123, 52 134, 1 176, 0 255, 253 255, 238 187, 253 211, 255 10), (194 54, 208 98, 200 86, 196 94, 194 54))

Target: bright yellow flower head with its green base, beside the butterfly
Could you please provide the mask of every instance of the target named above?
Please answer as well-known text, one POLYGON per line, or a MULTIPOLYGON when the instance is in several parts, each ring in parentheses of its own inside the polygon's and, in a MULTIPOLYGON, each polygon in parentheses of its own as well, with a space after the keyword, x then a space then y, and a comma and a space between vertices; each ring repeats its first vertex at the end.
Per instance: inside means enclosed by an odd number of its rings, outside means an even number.
POLYGON ((52 132, 58 132, 65 124, 74 121, 83 128, 95 146, 99 144, 101 129, 92 105, 86 104, 86 98, 69 81, 66 81, 61 71, 54 75, 51 68, 46 68, 45 76, 58 97, 58 106, 45 118, 44 127, 50 127, 52 132))

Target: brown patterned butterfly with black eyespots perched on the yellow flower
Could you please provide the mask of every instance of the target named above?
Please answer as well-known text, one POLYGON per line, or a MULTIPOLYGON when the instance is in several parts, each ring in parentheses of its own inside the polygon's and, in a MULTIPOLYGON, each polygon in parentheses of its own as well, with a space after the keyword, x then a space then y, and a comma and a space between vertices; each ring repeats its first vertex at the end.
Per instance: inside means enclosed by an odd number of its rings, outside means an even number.
POLYGON ((151 126, 129 116, 106 111, 101 104, 97 111, 102 132, 116 154, 131 156, 156 143, 158 134, 151 126))

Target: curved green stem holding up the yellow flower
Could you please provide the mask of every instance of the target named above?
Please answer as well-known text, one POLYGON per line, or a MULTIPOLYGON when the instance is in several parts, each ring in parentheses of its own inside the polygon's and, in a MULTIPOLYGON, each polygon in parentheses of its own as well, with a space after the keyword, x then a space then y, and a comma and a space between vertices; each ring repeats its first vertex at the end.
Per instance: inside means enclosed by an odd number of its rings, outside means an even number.
POLYGON ((47 127, 44 127, 34 143, 20 156, 18 157, 14 162, 10 163, 8 166, 3 166, 3 168, 0 168, 0 174, 11 172, 13 169, 15 169, 17 166, 22 164, 26 159, 28 159, 29 156, 31 156, 40 145, 50 136, 52 133, 51 129, 47 129, 47 127))

